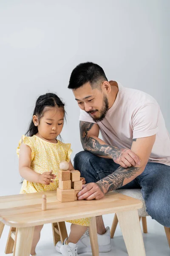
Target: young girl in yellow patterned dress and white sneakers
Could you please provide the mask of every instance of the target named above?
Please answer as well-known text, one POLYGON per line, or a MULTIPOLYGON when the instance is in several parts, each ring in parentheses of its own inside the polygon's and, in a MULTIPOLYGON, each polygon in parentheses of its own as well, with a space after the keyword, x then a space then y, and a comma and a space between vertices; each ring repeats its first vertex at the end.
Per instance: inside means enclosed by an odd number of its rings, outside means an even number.
MULTIPOLYGON (((71 145, 57 139, 63 128, 64 117, 64 104, 56 94, 46 93, 37 99, 26 133, 28 137, 23 135, 17 148, 19 172, 24 178, 20 194, 57 189, 59 163, 62 161, 68 161, 69 170, 74 169, 70 160, 71 145)), ((81 179, 85 183, 85 179, 81 179)), ((65 239, 61 252, 64 256, 77 256, 76 244, 87 230, 90 218, 68 222, 72 223, 71 233, 65 239)), ((35 227, 32 256, 36 255, 35 248, 42 226, 35 227)))

